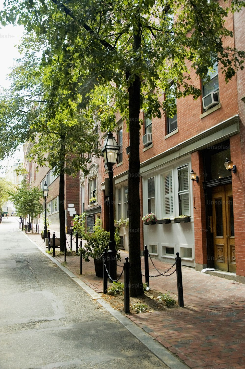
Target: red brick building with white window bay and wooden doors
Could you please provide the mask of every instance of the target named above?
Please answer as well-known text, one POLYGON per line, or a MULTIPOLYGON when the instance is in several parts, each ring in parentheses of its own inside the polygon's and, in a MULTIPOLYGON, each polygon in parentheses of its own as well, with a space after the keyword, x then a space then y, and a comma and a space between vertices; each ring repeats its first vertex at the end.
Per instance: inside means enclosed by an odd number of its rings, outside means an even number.
MULTIPOLYGON (((226 21, 234 34, 226 42, 241 50, 245 50, 244 19, 243 10, 230 14, 226 21)), ((179 252, 183 265, 196 270, 216 268, 245 283, 245 73, 239 70, 226 84, 220 65, 214 65, 209 83, 193 80, 202 96, 176 101, 175 117, 151 120, 141 113, 141 216, 153 212, 158 219, 171 220, 155 225, 142 222, 141 249, 148 245, 151 255, 166 261, 174 260, 179 252), (235 173, 225 169, 227 158, 236 166, 235 173), (198 182, 190 179, 192 169, 198 182)), ((120 151, 114 170, 114 202, 118 221, 128 217, 130 143, 126 124, 120 116, 116 122, 120 151)), ((87 229, 97 217, 108 228, 102 158, 91 164, 90 173, 87 179, 80 176, 80 211, 84 209, 87 215, 87 229), (96 194, 95 204, 89 202, 92 194, 96 194)), ((127 249, 127 227, 120 227, 120 235, 127 249)))

